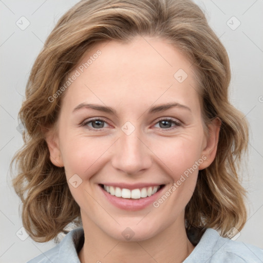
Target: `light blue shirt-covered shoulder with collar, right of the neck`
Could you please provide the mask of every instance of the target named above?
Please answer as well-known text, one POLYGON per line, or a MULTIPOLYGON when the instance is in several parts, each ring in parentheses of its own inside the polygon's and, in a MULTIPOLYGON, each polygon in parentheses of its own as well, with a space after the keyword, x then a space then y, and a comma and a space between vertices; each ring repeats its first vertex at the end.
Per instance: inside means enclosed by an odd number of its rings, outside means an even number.
POLYGON ((263 250, 244 242, 219 236, 214 229, 207 229, 193 252, 184 263, 195 262, 259 263, 263 262, 263 250))

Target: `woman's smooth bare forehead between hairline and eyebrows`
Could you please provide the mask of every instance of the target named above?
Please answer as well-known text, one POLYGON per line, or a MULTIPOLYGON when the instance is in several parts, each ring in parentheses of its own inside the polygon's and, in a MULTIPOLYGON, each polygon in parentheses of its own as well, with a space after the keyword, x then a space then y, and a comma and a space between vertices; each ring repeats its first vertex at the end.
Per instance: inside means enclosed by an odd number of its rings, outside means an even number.
POLYGON ((85 101, 133 109, 176 101, 199 109, 191 62, 163 39, 137 36, 128 43, 98 43, 69 76, 76 70, 79 76, 64 98, 71 108, 85 101))

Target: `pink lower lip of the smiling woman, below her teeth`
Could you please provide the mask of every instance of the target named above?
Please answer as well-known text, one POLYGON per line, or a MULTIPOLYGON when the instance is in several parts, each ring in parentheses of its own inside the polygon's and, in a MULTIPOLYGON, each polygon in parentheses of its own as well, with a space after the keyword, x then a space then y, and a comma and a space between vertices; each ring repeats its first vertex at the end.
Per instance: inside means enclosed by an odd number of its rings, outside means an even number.
POLYGON ((159 191, 157 191, 152 196, 148 196, 140 199, 128 199, 128 198, 122 198, 122 197, 117 197, 115 195, 111 195, 107 191, 103 190, 100 185, 98 186, 109 202, 117 206, 117 208, 126 211, 138 211, 146 208, 148 205, 152 204, 159 197, 159 195, 164 189, 164 187, 162 187, 159 191))

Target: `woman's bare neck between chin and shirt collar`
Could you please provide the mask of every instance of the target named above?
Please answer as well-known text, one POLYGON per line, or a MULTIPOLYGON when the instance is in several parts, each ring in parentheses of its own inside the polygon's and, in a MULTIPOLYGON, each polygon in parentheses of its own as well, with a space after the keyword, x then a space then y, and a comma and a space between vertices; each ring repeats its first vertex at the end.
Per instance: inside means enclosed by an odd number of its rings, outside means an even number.
POLYGON ((180 215, 178 220, 159 234, 134 242, 110 237, 92 221, 85 220, 84 216, 82 221, 85 241, 79 253, 80 261, 81 263, 182 262, 194 249, 186 236, 183 216, 184 214, 180 215))

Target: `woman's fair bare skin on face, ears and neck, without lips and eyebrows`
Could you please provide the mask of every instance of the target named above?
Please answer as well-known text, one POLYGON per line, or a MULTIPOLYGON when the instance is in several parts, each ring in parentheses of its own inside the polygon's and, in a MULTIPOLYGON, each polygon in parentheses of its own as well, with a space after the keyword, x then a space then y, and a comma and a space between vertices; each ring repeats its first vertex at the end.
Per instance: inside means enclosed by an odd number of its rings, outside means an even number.
POLYGON ((58 122, 46 134, 52 163, 65 167, 67 181, 74 174, 82 179, 77 188, 68 183, 81 208, 85 242, 80 261, 182 262, 194 249, 186 236, 184 209, 198 168, 158 208, 121 210, 98 184, 156 182, 165 184, 166 192, 202 156, 206 160, 199 170, 212 163, 220 123, 215 119, 205 135, 193 67, 165 40, 137 36, 126 44, 99 43, 79 65, 98 49, 102 54, 66 90, 58 122), (182 83, 174 78, 178 69, 188 74, 182 83), (171 102, 189 109, 147 112, 171 102), (116 115, 89 108, 72 112, 81 103, 109 106, 116 115), (102 130, 94 122, 80 125, 93 117, 105 120, 102 130), (172 121, 164 127, 160 119, 167 117, 180 125, 172 121), (127 121, 135 127, 130 135, 121 129, 127 121), (135 233, 130 240, 122 235, 127 227, 135 233))

